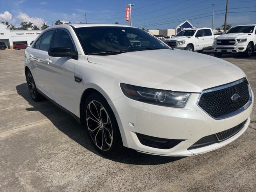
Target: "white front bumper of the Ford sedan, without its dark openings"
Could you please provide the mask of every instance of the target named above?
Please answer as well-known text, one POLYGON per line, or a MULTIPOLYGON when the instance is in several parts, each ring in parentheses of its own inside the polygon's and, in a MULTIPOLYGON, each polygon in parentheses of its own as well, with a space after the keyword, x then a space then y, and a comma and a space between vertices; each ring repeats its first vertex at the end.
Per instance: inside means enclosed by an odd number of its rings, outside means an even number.
MULTIPOLYGON (((182 109, 156 106, 122 96, 109 104, 116 115, 124 146, 139 152, 164 156, 191 156, 215 150, 232 142, 247 129, 252 104, 243 112, 222 120, 210 117, 197 106, 200 94, 192 93, 182 109), (204 136, 230 129, 244 120, 244 127, 234 136, 193 150, 188 148, 204 136), (174 140, 184 140, 170 149, 143 145, 136 133, 174 140)), ((252 95, 253 98, 253 95, 252 95)))

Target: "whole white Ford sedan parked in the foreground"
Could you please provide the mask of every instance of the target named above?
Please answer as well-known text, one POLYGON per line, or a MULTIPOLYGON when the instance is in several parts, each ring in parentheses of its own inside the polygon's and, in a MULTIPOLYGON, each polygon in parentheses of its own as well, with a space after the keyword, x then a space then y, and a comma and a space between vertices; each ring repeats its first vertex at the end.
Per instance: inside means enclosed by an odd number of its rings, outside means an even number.
POLYGON ((52 26, 26 48, 25 62, 32 99, 46 97, 74 116, 106 156, 123 146, 201 154, 232 142, 250 123, 253 93, 240 68, 170 48, 138 28, 52 26))

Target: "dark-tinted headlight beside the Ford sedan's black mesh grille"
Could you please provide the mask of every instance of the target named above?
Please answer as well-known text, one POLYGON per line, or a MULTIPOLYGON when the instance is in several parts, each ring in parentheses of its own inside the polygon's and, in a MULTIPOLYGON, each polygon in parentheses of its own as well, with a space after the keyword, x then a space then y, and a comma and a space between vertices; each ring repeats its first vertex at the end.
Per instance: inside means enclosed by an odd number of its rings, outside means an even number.
POLYGON ((120 87, 128 98, 167 107, 183 108, 190 96, 190 93, 186 92, 145 88, 124 83, 120 83, 120 87))

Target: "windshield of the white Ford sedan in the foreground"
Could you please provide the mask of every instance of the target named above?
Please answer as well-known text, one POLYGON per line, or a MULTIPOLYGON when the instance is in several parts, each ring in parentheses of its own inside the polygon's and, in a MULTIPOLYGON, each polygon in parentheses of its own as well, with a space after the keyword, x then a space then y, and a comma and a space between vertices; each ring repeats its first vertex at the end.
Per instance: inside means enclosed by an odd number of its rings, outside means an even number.
POLYGON ((100 26, 75 28, 86 54, 120 54, 154 49, 170 49, 144 30, 132 27, 100 26))

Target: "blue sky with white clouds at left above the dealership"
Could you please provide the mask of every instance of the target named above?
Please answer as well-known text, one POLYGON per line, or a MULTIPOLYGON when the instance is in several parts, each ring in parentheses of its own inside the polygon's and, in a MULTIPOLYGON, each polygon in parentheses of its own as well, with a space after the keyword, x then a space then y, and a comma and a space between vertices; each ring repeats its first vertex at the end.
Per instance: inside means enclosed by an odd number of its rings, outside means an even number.
MULTIPOLYGON (((212 4, 215 4, 214 28, 224 23, 226 0, 1 0, 0 20, 19 26, 31 21, 40 26, 56 20, 72 23, 128 24, 125 5, 132 7, 133 26, 148 29, 175 28, 189 20, 194 26, 212 26, 212 4), (201 17, 201 18, 200 18, 201 17), (197 24, 198 23, 198 24, 197 24)), ((256 0, 229 0, 228 23, 256 23, 256 0), (232 13, 235 12, 235 13, 232 13)))

